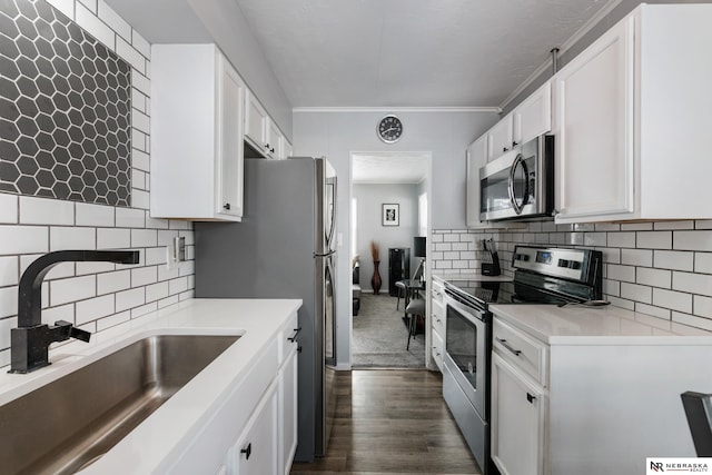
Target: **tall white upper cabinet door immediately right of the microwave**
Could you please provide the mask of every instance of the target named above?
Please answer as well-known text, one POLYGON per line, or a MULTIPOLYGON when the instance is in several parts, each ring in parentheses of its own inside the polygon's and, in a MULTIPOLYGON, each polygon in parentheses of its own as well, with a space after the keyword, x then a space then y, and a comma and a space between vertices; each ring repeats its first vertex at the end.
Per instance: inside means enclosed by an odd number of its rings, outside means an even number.
POLYGON ((634 211, 633 32, 622 21, 554 78, 557 221, 634 211))

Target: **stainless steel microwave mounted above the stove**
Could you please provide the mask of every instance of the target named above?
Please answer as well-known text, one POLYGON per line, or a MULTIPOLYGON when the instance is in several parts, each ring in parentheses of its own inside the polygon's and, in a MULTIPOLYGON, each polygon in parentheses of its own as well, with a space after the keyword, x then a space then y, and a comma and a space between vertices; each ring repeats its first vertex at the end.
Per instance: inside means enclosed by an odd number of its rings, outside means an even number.
POLYGON ((479 169, 479 219, 534 219, 554 211, 554 136, 522 144, 479 169))

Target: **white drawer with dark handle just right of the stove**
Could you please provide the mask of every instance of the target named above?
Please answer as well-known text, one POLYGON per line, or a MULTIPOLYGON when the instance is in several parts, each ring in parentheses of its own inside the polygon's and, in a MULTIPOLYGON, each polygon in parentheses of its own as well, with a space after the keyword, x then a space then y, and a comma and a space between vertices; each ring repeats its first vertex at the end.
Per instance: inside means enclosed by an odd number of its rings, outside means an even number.
POLYGON ((538 382, 547 385, 546 345, 494 318, 492 328, 494 352, 538 382))

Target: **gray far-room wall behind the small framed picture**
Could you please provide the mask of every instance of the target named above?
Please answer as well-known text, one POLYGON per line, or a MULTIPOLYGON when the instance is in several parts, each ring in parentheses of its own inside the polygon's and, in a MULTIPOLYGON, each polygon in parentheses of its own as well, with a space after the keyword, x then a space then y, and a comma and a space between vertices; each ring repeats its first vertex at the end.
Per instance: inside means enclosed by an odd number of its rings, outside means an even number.
MULTIPOLYGON (((419 185, 354 184, 353 196, 358 202, 356 251, 360 256, 360 287, 364 290, 372 289, 372 240, 380 248, 378 274, 383 281, 382 294, 388 293, 388 248, 407 247, 413 256, 413 237, 418 234, 418 187, 419 185), (400 206, 399 226, 382 225, 380 208, 386 202, 400 206)), ((414 263, 412 259, 411 273, 415 270, 414 263)))

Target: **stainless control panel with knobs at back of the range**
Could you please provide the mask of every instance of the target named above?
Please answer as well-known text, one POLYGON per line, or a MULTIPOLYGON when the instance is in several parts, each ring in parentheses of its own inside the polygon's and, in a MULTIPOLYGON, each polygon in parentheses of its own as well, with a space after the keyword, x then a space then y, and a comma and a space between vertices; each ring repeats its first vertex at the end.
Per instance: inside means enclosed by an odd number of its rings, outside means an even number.
POLYGON ((587 249, 562 249, 517 246, 512 257, 512 266, 537 274, 586 281, 587 249))

